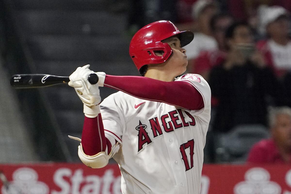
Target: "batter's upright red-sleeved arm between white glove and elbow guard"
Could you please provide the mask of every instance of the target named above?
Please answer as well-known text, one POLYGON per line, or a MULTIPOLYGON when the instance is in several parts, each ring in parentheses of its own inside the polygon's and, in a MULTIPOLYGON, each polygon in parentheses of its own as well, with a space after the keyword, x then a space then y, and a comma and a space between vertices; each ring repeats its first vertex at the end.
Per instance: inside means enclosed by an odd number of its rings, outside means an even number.
POLYGON ((84 153, 89 156, 105 152, 106 147, 110 153, 111 143, 105 137, 101 113, 95 118, 85 116, 81 143, 84 153))

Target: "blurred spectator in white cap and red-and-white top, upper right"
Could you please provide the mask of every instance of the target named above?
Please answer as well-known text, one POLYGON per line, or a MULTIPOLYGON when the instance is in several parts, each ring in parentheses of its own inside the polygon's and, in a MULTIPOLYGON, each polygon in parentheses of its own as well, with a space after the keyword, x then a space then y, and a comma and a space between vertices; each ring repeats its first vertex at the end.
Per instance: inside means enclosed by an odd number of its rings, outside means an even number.
POLYGON ((277 76, 283 77, 291 70, 290 18, 285 8, 279 6, 260 8, 261 29, 267 40, 258 42, 258 49, 274 68, 277 76))

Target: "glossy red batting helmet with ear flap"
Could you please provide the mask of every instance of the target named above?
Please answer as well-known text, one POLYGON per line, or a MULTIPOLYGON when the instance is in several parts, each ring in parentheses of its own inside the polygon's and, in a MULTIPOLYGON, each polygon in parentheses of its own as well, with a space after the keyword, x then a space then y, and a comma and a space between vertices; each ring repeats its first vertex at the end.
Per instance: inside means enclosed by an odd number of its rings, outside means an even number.
POLYGON ((188 45, 194 38, 191 31, 180 32, 170 21, 150 23, 135 33, 129 45, 129 55, 139 70, 143 65, 164 63, 172 54, 172 49, 162 40, 177 35, 181 47, 188 45), (157 56, 154 51, 164 51, 157 56))

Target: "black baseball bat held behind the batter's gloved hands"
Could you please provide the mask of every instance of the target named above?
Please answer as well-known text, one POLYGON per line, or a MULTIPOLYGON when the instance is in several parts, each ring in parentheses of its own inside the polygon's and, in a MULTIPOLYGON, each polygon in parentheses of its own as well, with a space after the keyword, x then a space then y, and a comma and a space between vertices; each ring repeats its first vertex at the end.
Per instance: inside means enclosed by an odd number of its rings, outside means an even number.
MULTIPOLYGON (((91 84, 96 84, 99 78, 92 73, 88 76, 91 84)), ((68 83, 69 77, 47 75, 47 74, 15 74, 10 78, 10 85, 14 88, 42 88, 61 83, 68 83)))

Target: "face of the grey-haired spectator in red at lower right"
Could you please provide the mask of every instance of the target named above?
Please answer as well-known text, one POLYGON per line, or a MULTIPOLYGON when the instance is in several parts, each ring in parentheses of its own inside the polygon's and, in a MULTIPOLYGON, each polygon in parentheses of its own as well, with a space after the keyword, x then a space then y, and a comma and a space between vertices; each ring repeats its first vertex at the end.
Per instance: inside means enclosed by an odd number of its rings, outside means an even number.
POLYGON ((275 141, 286 148, 291 149, 291 117, 281 114, 276 117, 276 125, 272 130, 275 141))

